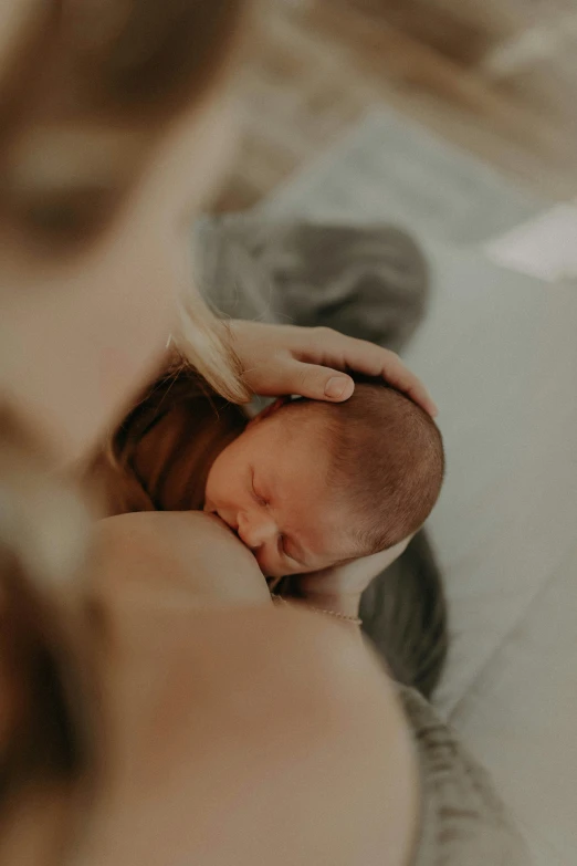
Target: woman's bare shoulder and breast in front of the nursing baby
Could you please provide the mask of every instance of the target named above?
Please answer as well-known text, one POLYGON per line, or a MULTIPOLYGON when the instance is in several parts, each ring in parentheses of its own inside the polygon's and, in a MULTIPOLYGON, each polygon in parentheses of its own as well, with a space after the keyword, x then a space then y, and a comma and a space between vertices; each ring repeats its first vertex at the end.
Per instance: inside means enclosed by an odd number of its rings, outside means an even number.
MULTIPOLYGON (((98 596, 122 650, 105 671, 113 728, 126 726, 127 693, 139 718, 133 662, 149 645, 146 697, 171 731, 164 748, 178 758, 178 784, 193 814, 210 803, 210 826, 227 827, 211 856, 248 866, 274 852, 288 866, 315 862, 322 846, 335 866, 377 866, 385 851, 405 863, 411 744, 395 689, 357 636, 273 607, 250 552, 209 515, 128 514, 101 531, 108 574, 98 596)), ((161 732, 153 733, 136 758, 130 745, 139 773, 156 760, 161 732)))

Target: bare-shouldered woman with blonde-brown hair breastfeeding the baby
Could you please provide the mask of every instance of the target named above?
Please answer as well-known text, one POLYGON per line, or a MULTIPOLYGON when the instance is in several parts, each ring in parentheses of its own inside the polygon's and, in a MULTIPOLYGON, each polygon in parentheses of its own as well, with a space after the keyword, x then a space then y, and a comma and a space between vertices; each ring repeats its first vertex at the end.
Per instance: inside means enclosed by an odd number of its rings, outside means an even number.
POLYGON ((415 749, 354 628, 273 611, 251 554, 206 515, 95 525, 65 484, 169 335, 230 399, 345 399, 352 367, 430 407, 384 349, 224 327, 195 298, 181 309, 187 227, 233 137, 242 12, 0 11, 1 863, 348 866, 386 852, 400 866, 416 844, 415 749))

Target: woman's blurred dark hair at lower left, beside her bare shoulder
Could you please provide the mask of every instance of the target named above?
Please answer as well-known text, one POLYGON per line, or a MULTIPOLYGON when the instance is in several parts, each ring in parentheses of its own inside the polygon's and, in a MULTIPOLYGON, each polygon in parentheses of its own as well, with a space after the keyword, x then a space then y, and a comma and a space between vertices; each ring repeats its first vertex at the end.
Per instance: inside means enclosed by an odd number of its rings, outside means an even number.
POLYGON ((46 864, 60 862, 77 832, 99 766, 86 639, 95 626, 86 592, 92 521, 41 444, 0 410, 0 834, 23 792, 57 785, 69 794, 70 820, 46 849, 46 864))

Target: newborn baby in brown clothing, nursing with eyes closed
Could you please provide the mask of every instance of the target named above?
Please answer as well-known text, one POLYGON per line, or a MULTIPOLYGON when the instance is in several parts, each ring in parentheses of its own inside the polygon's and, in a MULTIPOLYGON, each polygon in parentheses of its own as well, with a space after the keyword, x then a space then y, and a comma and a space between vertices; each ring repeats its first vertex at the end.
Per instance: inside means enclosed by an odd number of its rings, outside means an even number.
POLYGON ((249 421, 190 372, 160 379, 94 468, 109 514, 203 508, 267 577, 402 541, 429 515, 443 470, 434 421, 381 382, 359 382, 343 404, 277 400, 249 421))

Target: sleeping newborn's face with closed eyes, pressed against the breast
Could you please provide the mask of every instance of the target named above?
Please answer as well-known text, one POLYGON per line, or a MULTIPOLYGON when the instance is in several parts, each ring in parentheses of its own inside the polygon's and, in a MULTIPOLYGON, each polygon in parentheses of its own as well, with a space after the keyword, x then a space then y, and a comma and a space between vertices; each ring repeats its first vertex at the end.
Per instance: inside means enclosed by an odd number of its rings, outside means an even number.
POLYGON ((214 461, 204 510, 234 530, 267 577, 350 556, 350 515, 327 484, 328 455, 312 424, 256 419, 214 461))

